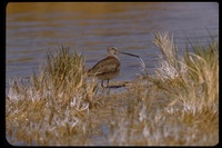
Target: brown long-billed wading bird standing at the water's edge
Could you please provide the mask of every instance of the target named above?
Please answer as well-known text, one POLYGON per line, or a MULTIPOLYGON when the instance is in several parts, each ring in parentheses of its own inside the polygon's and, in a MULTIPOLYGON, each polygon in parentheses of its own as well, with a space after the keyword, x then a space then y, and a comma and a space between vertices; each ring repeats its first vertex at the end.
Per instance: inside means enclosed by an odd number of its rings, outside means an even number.
POLYGON ((117 47, 109 47, 107 58, 102 59, 88 70, 89 76, 95 76, 98 79, 102 80, 102 87, 103 80, 107 80, 107 87, 109 87, 109 80, 115 78, 120 72, 120 59, 118 58, 118 53, 140 58, 135 55, 119 51, 117 47))

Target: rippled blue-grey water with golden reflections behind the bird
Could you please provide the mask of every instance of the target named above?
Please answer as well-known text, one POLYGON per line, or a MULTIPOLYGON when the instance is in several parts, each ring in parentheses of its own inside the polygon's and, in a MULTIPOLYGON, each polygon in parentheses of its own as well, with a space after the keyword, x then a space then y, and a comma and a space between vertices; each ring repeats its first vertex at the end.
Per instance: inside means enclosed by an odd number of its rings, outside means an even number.
MULTIPOLYGON (((158 66, 158 31, 169 31, 181 55, 193 45, 219 40, 216 2, 17 2, 8 3, 6 22, 6 88, 13 77, 39 70, 47 50, 58 45, 83 52, 88 68, 107 55, 109 46, 140 56, 150 75, 158 66)), ((140 72, 137 58, 121 56, 115 80, 140 72)), ((69 65, 69 63, 68 63, 69 65)))

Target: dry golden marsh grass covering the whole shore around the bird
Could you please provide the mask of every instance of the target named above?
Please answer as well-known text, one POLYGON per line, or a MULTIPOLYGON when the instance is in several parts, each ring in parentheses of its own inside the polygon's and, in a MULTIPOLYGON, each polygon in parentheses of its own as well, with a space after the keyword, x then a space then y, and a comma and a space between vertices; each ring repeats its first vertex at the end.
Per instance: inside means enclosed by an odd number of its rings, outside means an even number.
MULTIPOLYGON (((6 136, 11 145, 215 146, 219 142, 219 45, 192 45, 179 59, 173 37, 154 34, 154 76, 102 90, 84 57, 61 46, 23 83, 10 82, 6 136)), ((112 81, 111 85, 121 82, 112 81)))

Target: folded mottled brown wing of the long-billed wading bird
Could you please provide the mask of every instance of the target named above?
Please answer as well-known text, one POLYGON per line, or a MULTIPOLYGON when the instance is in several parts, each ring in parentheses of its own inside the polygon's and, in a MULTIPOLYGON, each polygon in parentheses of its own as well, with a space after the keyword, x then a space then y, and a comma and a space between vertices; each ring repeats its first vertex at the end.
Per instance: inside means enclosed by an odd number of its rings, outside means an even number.
POLYGON ((114 57, 107 57, 89 70, 91 75, 101 75, 120 69, 120 61, 114 57))

